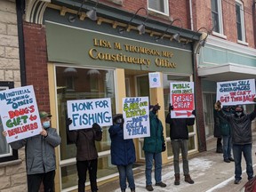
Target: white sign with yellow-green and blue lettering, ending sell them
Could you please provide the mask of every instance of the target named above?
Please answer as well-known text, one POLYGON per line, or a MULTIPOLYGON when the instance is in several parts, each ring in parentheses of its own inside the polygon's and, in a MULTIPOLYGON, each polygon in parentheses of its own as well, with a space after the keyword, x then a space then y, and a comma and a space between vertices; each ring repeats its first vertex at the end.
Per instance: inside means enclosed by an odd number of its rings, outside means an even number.
POLYGON ((148 97, 123 98, 124 140, 150 136, 148 97))

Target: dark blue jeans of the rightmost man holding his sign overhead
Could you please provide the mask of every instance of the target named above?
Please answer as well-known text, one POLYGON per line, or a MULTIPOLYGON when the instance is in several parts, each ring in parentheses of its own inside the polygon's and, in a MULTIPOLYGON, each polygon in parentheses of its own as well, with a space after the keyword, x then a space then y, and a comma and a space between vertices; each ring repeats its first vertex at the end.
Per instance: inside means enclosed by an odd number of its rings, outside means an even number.
POLYGON ((252 169, 252 144, 245 145, 233 145, 233 155, 235 159, 235 179, 242 180, 242 152, 244 155, 245 163, 246 163, 246 173, 248 176, 248 180, 251 180, 253 177, 253 169, 252 169))

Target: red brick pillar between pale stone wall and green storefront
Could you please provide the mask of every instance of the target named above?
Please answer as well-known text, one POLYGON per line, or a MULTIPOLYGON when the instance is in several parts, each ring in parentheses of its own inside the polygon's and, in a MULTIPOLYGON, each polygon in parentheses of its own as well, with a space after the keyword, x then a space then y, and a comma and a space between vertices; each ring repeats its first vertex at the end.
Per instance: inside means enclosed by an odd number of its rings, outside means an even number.
POLYGON ((27 84, 33 84, 39 110, 50 112, 45 28, 24 23, 27 84))

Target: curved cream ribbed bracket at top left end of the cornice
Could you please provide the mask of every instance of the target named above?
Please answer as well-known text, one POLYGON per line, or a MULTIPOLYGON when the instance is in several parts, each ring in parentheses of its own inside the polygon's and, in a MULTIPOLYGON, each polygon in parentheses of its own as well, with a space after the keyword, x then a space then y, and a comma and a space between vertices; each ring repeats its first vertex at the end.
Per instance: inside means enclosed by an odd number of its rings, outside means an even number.
POLYGON ((44 11, 51 0, 27 0, 25 20, 27 22, 43 24, 44 11))

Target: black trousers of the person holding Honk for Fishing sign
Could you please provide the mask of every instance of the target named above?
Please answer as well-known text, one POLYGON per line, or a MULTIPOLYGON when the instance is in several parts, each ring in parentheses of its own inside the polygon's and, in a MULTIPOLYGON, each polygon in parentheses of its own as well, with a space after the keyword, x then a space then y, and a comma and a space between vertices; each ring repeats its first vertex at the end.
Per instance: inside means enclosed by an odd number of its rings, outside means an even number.
POLYGON ((89 180, 91 184, 91 190, 97 191, 97 164, 98 159, 90 161, 77 161, 76 169, 78 174, 78 192, 85 191, 86 172, 89 172, 89 180))

